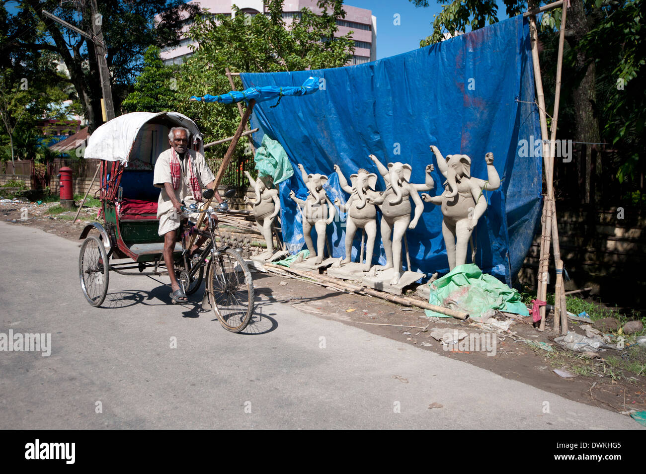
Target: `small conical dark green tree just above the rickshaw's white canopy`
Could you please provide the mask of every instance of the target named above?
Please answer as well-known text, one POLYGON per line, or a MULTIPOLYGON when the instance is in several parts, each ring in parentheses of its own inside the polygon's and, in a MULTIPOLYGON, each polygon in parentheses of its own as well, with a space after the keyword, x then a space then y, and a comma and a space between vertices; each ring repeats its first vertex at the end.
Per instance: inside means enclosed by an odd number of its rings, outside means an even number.
POLYGON ((163 65, 160 48, 150 46, 143 55, 143 71, 134 82, 134 91, 124 99, 126 112, 164 112, 173 110, 177 81, 173 68, 163 65))

